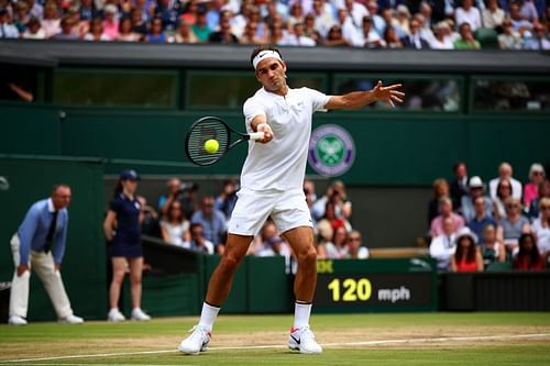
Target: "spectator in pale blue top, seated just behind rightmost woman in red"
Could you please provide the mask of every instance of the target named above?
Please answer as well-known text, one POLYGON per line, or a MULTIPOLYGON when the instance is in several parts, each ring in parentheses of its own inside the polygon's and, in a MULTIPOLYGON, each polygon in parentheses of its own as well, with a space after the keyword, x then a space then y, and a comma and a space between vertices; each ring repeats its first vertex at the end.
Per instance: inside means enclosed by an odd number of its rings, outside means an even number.
POLYGON ((530 232, 529 220, 521 215, 521 203, 517 198, 510 197, 505 202, 506 218, 498 221, 497 237, 502 237, 506 251, 515 254, 518 239, 522 233, 530 232))

